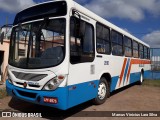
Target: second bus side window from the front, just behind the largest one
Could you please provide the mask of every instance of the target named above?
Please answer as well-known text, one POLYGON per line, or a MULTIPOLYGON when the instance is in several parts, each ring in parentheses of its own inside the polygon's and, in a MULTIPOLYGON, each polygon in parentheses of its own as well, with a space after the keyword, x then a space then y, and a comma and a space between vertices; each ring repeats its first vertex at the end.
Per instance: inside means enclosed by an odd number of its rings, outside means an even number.
POLYGON ((102 54, 110 54, 110 30, 107 27, 96 24, 97 52, 102 54))

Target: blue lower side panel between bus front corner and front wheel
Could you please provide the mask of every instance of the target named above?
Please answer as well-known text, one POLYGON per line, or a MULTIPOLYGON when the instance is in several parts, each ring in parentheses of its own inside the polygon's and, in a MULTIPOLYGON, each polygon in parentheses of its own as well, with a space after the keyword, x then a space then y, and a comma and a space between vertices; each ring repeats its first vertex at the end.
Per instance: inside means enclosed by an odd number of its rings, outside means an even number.
POLYGON ((98 93, 98 82, 93 80, 69 86, 68 108, 95 98, 98 93))

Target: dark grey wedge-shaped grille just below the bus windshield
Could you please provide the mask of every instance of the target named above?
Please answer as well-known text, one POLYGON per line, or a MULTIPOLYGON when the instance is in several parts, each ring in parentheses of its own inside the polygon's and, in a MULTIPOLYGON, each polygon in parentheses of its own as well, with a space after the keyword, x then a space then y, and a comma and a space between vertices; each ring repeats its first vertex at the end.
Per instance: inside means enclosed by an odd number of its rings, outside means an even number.
POLYGON ((21 73, 15 71, 12 71, 12 73, 16 78, 26 81, 39 81, 47 76, 46 74, 21 73))

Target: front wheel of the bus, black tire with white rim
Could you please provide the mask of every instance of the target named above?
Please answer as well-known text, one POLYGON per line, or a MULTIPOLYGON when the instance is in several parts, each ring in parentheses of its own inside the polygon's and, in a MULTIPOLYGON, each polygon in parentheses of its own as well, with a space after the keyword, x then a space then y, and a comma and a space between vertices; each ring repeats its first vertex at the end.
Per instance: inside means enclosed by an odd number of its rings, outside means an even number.
POLYGON ((102 77, 98 85, 97 97, 93 99, 93 103, 96 105, 103 104, 109 96, 110 96, 109 84, 106 78, 102 77))

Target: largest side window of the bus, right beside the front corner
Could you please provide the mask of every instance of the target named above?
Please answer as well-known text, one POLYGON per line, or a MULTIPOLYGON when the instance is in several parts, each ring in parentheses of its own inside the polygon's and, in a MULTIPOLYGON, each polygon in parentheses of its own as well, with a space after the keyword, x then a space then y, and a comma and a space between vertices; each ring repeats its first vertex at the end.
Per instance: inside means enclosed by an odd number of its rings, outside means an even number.
POLYGON ((94 28, 91 24, 71 17, 70 62, 72 64, 94 60, 94 28))

